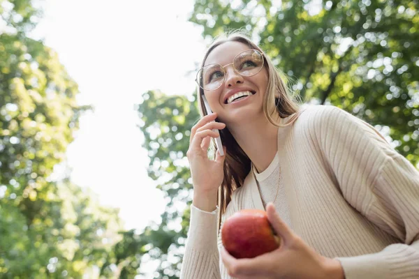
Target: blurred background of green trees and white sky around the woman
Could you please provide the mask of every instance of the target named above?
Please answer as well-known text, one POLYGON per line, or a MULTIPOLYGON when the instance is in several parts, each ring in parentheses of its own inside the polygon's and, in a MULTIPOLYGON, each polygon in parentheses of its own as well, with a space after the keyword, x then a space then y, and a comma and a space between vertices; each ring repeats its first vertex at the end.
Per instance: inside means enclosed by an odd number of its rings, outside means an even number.
POLYGON ((418 8, 0 0, 0 278, 179 278, 195 73, 226 30, 419 167, 418 8))

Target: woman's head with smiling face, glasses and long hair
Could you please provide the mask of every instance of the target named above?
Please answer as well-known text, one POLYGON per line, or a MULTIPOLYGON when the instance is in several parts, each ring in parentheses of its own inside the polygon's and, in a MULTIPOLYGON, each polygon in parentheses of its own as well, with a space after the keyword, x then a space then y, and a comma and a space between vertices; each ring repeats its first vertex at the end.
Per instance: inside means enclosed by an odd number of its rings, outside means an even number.
MULTIPOLYGON (((272 61, 264 57, 263 50, 250 40, 244 36, 233 36, 229 41, 219 40, 214 43, 207 51, 203 67, 198 70, 201 113, 207 114, 202 104, 202 96, 205 94, 210 107, 217 112, 217 121, 228 126, 220 131, 221 141, 226 144, 229 155, 224 174, 235 175, 233 185, 228 177, 223 179, 226 193, 220 193, 221 215, 229 202, 229 193, 233 193, 235 186, 242 184, 249 172, 249 156, 243 152, 240 144, 237 146, 237 140, 247 137, 250 131, 248 124, 253 123, 255 127, 264 127, 276 134, 277 126, 274 124, 279 120, 278 116, 287 117, 298 111, 297 102, 286 89, 279 72, 272 61), (281 105, 278 105, 279 102, 281 105), (266 127, 266 119, 270 120, 272 126, 266 127), (243 137, 234 137, 235 133, 243 133, 243 137)), ((264 132, 260 130, 259 135, 264 135, 264 132)), ((271 140, 275 141, 275 137, 273 135, 271 140)))

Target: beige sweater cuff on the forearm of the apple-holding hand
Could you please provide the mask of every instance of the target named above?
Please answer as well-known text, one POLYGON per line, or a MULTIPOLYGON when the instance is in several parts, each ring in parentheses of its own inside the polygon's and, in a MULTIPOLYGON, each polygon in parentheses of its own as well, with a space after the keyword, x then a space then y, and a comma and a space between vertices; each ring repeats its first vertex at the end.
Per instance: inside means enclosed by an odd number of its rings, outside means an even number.
POLYGON ((409 273, 418 272, 418 251, 404 244, 390 245, 375 254, 336 259, 341 262, 346 279, 410 278, 409 273))

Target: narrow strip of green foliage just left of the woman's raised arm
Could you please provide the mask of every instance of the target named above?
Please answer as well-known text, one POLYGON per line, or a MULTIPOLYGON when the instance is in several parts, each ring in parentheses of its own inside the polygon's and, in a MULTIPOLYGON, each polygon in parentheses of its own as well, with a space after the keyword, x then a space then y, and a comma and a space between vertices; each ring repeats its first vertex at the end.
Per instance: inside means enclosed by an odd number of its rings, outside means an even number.
POLYGON ((162 222, 145 228, 141 234, 149 243, 147 255, 159 261, 155 278, 179 278, 182 247, 187 227, 182 227, 185 204, 191 200, 191 179, 186 159, 190 130, 199 119, 194 97, 166 96, 159 91, 143 95, 138 112, 145 131, 145 148, 149 150, 148 174, 159 182, 166 194, 166 211, 162 222))

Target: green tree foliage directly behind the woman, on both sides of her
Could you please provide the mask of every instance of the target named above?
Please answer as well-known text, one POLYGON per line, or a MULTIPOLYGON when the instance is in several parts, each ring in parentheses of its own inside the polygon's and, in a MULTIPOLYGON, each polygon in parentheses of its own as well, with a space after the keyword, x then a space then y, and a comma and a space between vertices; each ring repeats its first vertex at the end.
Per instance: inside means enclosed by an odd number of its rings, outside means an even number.
MULTIPOLYGON (((231 29, 252 31, 306 103, 332 104, 365 119, 418 164, 418 1, 312 3, 197 0, 190 20, 209 39, 231 29)), ((161 262, 155 278, 178 278, 192 197, 186 151, 198 110, 193 97, 150 91, 144 99, 138 111, 149 176, 166 193, 168 206, 161 224, 141 236, 155 236, 147 252, 161 262)))

